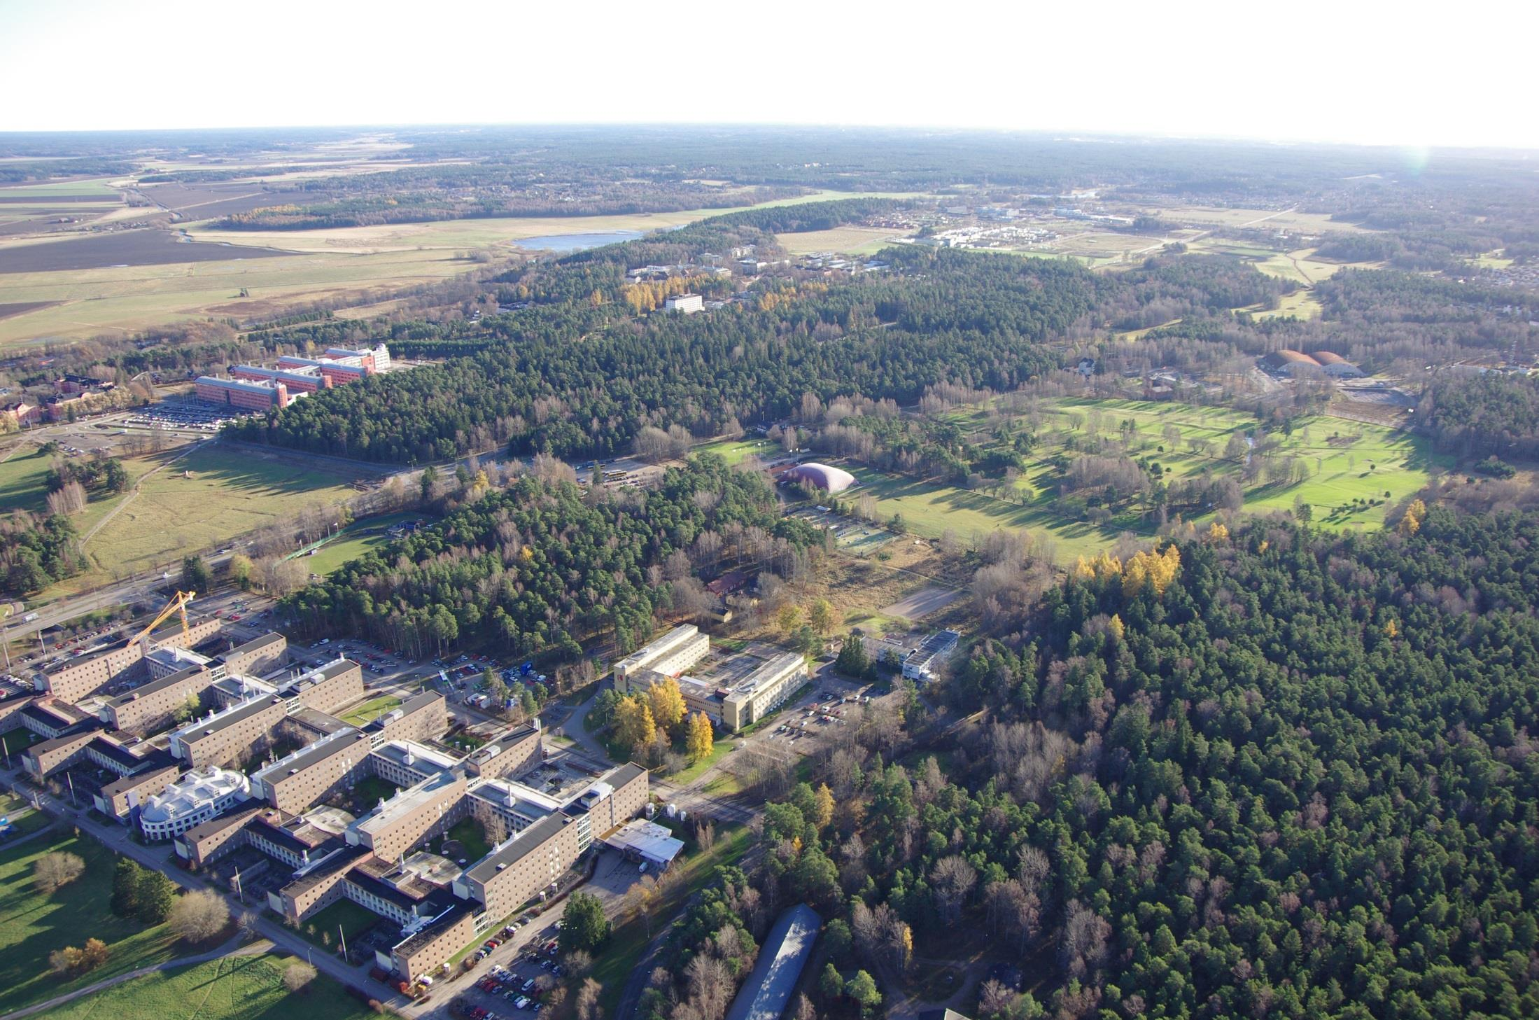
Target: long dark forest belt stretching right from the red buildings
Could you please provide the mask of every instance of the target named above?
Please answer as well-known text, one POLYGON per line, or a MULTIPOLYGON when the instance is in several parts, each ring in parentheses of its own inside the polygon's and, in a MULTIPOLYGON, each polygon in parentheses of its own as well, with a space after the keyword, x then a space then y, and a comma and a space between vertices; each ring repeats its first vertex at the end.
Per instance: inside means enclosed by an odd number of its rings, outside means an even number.
MULTIPOLYGON (((529 269, 505 286, 549 303, 476 329, 412 328, 403 343, 389 340, 408 354, 468 357, 325 391, 232 423, 229 434, 396 463, 502 443, 517 454, 611 457, 646 425, 714 435, 785 417, 808 392, 913 403, 939 383, 1014 389, 1060 366, 1050 342, 1097 323, 1145 323, 1150 309, 1214 315, 1291 288, 1219 257, 1153 260, 1107 277, 1056 260, 896 248, 883 255, 886 274, 771 280, 709 315, 631 318, 613 305, 628 266, 748 237, 773 243, 762 231, 880 208, 830 205, 854 208, 754 209, 529 269)), ((312 332, 328 329, 336 326, 312 332)))

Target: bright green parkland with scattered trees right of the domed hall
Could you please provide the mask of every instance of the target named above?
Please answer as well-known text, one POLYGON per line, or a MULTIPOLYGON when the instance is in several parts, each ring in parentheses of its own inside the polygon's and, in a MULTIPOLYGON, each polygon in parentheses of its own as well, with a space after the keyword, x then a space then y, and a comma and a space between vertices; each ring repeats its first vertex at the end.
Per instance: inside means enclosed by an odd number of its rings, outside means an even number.
MULTIPOLYGON (((1063 449, 1065 438, 1083 440, 1093 412, 1102 418, 1102 435, 1120 435, 1120 423, 1130 422, 1130 455, 1157 460, 1168 482, 1203 472, 1237 474, 1240 465, 1220 455, 1224 445, 1231 434, 1247 434, 1257 426, 1256 418, 1227 408, 1136 400, 1057 398, 1042 402, 1040 412, 1042 443, 1033 452, 1036 460, 1019 478, 1016 491, 1007 494, 1008 498, 870 468, 854 469, 860 488, 850 497, 876 497, 876 512, 883 522, 899 514, 910 532, 930 538, 946 531, 963 542, 1000 528, 1027 531, 1050 542, 1060 563, 1071 563, 1079 555, 1097 552, 1123 532, 1153 534, 1137 511, 1119 512, 1105 523, 1090 523, 1065 518, 1056 505, 1057 474, 1048 457, 1063 449), (1167 426, 1180 432, 1180 442, 1173 449, 1160 451, 1167 426), (1214 451, 1208 455, 1194 452, 1190 448, 1194 440, 1213 443, 1214 451)), ((988 415, 985 411, 963 411, 948 418, 982 434, 988 415)), ((1380 525, 1388 505, 1427 485, 1428 469, 1436 460, 1427 443, 1408 432, 1331 417, 1297 422, 1293 435, 1282 440, 1280 452, 1297 457, 1310 477, 1296 485, 1247 486, 1245 511, 1290 509, 1294 500, 1304 500, 1314 509, 1314 523, 1327 528, 1380 525), (1354 500, 1379 500, 1379 505, 1354 505, 1354 500)), ((1194 520, 1207 517, 1210 514, 1194 520)))

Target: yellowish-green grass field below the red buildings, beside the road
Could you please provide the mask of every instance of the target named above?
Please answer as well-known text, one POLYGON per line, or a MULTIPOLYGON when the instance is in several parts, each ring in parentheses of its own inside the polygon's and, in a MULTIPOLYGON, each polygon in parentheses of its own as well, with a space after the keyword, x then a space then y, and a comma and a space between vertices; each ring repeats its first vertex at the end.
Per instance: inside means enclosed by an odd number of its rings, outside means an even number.
MULTIPOLYGON (((139 474, 155 466, 142 458, 123 463, 139 474)), ((311 506, 334 506, 356 494, 351 482, 349 475, 275 454, 235 452, 211 443, 146 477, 132 498, 119 497, 122 509, 86 542, 94 569, 54 586, 51 594, 100 583, 112 574, 180 563, 185 552, 219 546, 311 506)), ((77 518, 82 532, 89 528, 89 512, 77 518)))

